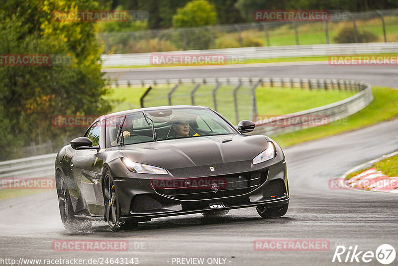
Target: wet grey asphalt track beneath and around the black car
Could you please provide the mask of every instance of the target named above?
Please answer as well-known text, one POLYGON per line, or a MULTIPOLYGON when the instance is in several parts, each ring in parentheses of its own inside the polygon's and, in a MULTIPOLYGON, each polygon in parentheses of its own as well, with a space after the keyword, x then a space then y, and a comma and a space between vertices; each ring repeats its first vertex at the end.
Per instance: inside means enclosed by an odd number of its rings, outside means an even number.
MULTIPOLYGON (((293 76, 292 71, 279 76, 293 76)), ((305 77, 316 76, 310 70, 307 75, 303 71, 305 77)), ((239 75, 249 76, 242 72, 239 75)), ((264 76, 272 76, 268 73, 264 76)), ((378 85, 394 83, 389 80, 393 77, 389 73, 384 79, 375 80, 362 72, 347 74, 347 78, 366 80, 365 77, 373 85, 378 80, 378 85)), ((260 219, 254 208, 247 208, 211 220, 200 214, 159 218, 141 223, 130 232, 113 233, 105 223, 96 223, 93 232, 74 235, 61 224, 55 191, 2 200, 0 258, 138 258, 139 265, 148 266, 177 265, 172 264, 172 258, 204 258, 203 265, 208 265, 208 258, 225 258, 225 264, 231 266, 346 265, 331 263, 336 245, 358 245, 360 251, 375 252, 381 244, 390 244, 398 251, 397 194, 328 188, 330 178, 397 149, 398 120, 285 149, 291 204, 286 216, 279 219, 260 219), (330 250, 254 251, 256 239, 326 239, 330 250), (127 240, 129 251, 54 252, 53 240, 127 240), (134 249, 138 243, 142 249, 134 249)), ((381 264, 373 259, 366 265, 381 264)), ((390 265, 398 265, 398 259, 390 265)))

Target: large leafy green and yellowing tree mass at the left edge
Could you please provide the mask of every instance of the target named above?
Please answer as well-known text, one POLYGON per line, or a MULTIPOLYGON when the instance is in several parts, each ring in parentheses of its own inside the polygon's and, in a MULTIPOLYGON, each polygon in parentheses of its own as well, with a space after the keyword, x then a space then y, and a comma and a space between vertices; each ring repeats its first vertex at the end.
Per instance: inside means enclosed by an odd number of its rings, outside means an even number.
MULTIPOLYGON (((101 73, 101 49, 93 22, 58 22, 54 10, 96 10, 94 0, 7 0, 0 5, 1 55, 58 54, 61 65, 0 64, 0 159, 23 156, 23 145, 58 141, 84 133, 57 128, 56 115, 100 115, 110 111, 101 73), (21 151, 22 150, 22 151, 21 151), (18 153, 17 151, 20 151, 18 153)), ((52 56, 54 58, 54 56, 52 56)))

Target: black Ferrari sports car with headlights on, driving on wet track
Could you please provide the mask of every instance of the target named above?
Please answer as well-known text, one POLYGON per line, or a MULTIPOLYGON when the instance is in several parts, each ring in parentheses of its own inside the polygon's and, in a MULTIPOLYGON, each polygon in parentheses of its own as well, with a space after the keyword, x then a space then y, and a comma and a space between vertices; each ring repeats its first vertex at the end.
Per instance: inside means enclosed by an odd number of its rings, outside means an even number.
POLYGON ((246 135, 200 106, 165 106, 99 117, 57 154, 55 176, 65 228, 95 219, 112 230, 152 218, 256 207, 261 217, 286 214, 285 155, 264 135, 246 135))

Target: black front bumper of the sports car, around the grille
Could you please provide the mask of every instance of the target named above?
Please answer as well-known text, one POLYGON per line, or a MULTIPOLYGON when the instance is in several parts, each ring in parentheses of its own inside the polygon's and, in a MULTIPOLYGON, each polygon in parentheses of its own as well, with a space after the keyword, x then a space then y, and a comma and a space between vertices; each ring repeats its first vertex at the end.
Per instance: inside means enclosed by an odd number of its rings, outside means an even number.
MULTIPOLYGON (((239 167, 238 167, 239 168, 239 167)), ((245 168, 245 167, 243 167, 245 168)), ((261 173, 261 180, 250 189, 242 189, 241 193, 219 190, 208 196, 199 193, 188 193, 174 196, 163 193, 164 190, 153 187, 151 178, 114 178, 114 184, 120 204, 122 221, 148 221, 151 218, 201 213, 214 210, 214 206, 223 205, 217 210, 237 209, 258 205, 283 205, 289 202, 289 189, 285 159, 271 164, 256 165, 257 169, 249 172, 234 173, 246 176, 261 173), (197 195, 198 194, 198 195, 197 195), (212 206, 212 207, 210 207, 212 206)), ((247 167, 246 167, 247 169, 247 167)), ((189 179, 189 178, 187 178, 189 179)))

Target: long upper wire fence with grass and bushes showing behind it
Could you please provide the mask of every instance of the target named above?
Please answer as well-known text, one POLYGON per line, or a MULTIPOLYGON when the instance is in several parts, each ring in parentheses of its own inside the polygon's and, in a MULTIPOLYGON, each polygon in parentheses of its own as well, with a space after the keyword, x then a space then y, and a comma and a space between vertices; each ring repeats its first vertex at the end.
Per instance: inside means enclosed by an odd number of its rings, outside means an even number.
POLYGON ((301 44, 397 42, 398 9, 331 12, 327 21, 267 21, 102 33, 104 54, 301 44))

